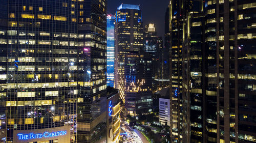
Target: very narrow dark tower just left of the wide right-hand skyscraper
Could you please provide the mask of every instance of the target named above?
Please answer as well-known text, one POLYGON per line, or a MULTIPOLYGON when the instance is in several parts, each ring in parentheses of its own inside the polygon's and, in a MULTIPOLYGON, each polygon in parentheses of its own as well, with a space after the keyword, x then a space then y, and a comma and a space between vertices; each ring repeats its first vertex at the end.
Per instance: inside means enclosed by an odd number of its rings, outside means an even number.
POLYGON ((170 136, 182 142, 182 24, 180 1, 170 1, 165 14, 165 46, 169 47, 170 136))

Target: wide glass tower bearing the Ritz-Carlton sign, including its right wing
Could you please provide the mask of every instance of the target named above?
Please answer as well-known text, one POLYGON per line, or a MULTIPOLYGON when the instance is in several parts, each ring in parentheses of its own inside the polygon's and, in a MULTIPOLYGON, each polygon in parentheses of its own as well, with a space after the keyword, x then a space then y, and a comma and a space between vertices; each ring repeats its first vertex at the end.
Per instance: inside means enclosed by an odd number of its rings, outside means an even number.
POLYGON ((92 3, 1 2, 3 142, 105 140, 106 2, 92 3))

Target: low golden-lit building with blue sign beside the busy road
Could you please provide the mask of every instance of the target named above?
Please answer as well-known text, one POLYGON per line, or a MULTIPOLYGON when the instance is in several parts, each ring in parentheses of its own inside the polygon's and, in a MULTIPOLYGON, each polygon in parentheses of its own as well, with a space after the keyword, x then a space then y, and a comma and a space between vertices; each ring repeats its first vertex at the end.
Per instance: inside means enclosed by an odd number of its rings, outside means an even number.
POLYGON ((107 143, 118 143, 120 139, 120 110, 121 100, 117 90, 108 88, 108 101, 107 101, 107 143))

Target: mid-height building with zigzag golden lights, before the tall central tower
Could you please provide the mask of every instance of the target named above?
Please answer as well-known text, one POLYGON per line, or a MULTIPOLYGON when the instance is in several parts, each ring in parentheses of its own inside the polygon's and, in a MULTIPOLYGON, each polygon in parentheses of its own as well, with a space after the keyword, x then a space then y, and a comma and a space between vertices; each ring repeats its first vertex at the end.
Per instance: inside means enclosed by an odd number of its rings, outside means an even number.
POLYGON ((131 116, 152 111, 152 59, 142 49, 126 52, 124 60, 125 109, 131 116))

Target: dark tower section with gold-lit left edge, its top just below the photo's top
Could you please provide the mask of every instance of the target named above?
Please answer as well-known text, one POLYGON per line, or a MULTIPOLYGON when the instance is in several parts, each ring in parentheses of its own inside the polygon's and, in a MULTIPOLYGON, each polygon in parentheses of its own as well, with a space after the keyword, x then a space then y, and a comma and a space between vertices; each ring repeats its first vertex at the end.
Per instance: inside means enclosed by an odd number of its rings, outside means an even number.
MULTIPOLYGON (((196 4, 195 4, 196 5, 196 4)), ((201 5, 200 5, 201 6, 201 5)), ((207 142, 206 129, 206 63, 204 48, 204 14, 201 9, 188 13, 183 26, 183 142, 207 142), (191 134, 189 134, 190 132, 191 134)), ((211 93, 211 92, 207 92, 211 93)), ((208 94, 207 94, 208 95, 208 94)), ((214 110, 213 110, 214 111, 214 110)), ((208 111, 210 113, 210 111, 208 111)), ((212 134, 208 134, 211 137, 212 134)))

